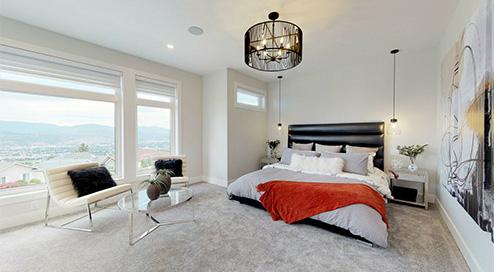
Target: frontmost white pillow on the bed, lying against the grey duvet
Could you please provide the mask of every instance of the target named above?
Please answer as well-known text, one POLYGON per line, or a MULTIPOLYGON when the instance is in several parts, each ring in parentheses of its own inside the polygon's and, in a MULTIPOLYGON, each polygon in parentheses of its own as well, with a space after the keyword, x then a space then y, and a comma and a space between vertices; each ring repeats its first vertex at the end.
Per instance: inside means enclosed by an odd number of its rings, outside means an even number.
POLYGON ((294 153, 289 167, 297 171, 336 175, 343 172, 344 164, 341 158, 308 157, 294 153))

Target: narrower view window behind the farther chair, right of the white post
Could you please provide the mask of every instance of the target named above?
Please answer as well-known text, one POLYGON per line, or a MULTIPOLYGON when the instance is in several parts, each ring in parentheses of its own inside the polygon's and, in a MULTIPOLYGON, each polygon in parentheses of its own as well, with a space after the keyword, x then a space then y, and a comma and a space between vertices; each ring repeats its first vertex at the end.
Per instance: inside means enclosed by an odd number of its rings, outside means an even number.
POLYGON ((175 153, 176 86, 144 77, 136 78, 137 172, 149 173, 154 161, 175 153))

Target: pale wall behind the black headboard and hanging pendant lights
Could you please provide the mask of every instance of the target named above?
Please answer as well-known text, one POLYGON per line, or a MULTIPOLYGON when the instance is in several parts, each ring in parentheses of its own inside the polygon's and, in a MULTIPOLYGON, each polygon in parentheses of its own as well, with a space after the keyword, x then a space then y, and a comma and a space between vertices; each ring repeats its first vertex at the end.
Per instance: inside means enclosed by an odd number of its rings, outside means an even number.
MULTIPOLYGON (((392 48, 390 48, 392 49, 392 48)), ((397 145, 430 146, 417 164, 429 169, 434 180, 438 145, 436 143, 436 89, 438 73, 434 47, 410 52, 406 48, 397 56, 397 118, 402 130, 398 136, 385 136, 385 160, 399 156, 397 145)), ((386 121, 392 114, 393 58, 389 50, 373 60, 348 57, 347 62, 330 64, 320 72, 282 81, 282 133, 278 123, 278 83, 270 84, 268 135, 287 146, 287 125, 386 121)), ((295 68, 296 69, 296 68, 295 68)), ((435 186, 431 184, 430 192, 435 186)))

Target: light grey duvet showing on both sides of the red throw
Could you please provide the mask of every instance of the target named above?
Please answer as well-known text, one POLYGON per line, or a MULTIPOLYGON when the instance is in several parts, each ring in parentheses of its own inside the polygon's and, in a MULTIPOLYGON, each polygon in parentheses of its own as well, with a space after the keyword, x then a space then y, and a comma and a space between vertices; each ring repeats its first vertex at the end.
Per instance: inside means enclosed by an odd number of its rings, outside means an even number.
MULTIPOLYGON (((328 175, 307 174, 286 169, 265 168, 246 174, 231 183, 227 188, 229 195, 250 198, 259 201, 260 194, 256 186, 271 180, 306 182, 363 183, 362 181, 328 175)), ((317 214, 313 219, 349 230, 351 233, 367 239, 381 247, 388 246, 387 226, 381 215, 364 204, 346 206, 334 211, 317 214)))

